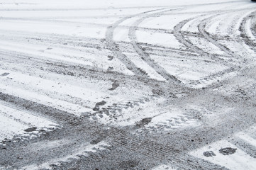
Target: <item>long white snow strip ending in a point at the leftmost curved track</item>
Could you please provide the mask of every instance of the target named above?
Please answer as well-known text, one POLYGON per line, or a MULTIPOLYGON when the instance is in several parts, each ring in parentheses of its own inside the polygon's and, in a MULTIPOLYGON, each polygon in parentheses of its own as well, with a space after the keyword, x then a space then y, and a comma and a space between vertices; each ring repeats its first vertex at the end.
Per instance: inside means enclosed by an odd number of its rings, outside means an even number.
POLYGON ((109 62, 107 57, 111 55, 109 51, 103 53, 90 48, 85 49, 85 47, 83 49, 76 48, 72 50, 63 47, 52 47, 51 50, 47 50, 48 45, 33 45, 24 42, 21 44, 21 42, 13 42, 11 40, 0 40, 0 45, 0 49, 2 50, 21 52, 40 59, 83 64, 85 66, 89 65, 91 67, 99 67, 105 71, 108 67, 113 67, 116 72, 133 75, 120 60, 113 58, 109 62))

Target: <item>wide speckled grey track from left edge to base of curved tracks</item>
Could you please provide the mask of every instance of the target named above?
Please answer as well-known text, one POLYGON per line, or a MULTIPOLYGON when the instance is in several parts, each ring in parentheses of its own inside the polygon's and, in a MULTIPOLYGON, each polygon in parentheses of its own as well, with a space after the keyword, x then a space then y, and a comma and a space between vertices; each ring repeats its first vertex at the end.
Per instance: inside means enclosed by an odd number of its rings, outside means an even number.
MULTIPOLYGON (((26 65, 26 72, 30 72, 30 67, 33 67, 37 69, 39 72, 45 72, 45 73, 55 73, 55 74, 62 74, 72 77, 82 77, 82 78, 93 78, 96 79, 99 78, 103 81, 111 80, 111 79, 117 79, 118 81, 121 81, 123 79, 135 81, 135 84, 138 84, 139 82, 148 82, 148 80, 140 79, 138 76, 130 76, 126 74, 122 74, 120 72, 108 72, 105 70, 102 70, 100 68, 91 67, 91 66, 84 66, 84 65, 77 65, 73 63, 67 63, 67 62, 60 62, 55 60, 47 60, 42 57, 37 56, 31 56, 27 54, 21 54, 18 52, 5 52, 0 50, 0 55, 2 57, 2 61, 13 64, 13 63, 23 63, 26 65), (11 55, 13 57, 11 57, 11 55), (26 62, 25 62, 26 61, 26 62), (95 76, 96 74, 96 76, 95 76)), ((16 69, 13 69, 12 67, 8 67, 9 69, 16 71, 16 69)), ((24 72, 22 69, 19 70, 20 72, 24 72)), ((30 72, 30 74, 33 74, 33 72, 30 72)), ((38 76, 38 75, 37 75, 38 76)), ((150 82, 154 83, 160 83, 160 81, 157 81, 155 79, 150 79, 150 82)))

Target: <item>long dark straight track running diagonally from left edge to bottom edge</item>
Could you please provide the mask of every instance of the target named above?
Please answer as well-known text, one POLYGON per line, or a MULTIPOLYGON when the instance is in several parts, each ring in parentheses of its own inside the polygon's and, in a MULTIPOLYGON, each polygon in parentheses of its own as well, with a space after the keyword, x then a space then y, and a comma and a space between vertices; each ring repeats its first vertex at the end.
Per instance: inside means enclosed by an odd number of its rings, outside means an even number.
MULTIPOLYGON (((117 147, 118 145, 121 145, 122 147, 126 147, 126 149, 133 151, 133 153, 137 152, 139 154, 145 155, 146 157, 158 159, 159 161, 163 161, 165 159, 169 162, 177 164, 177 166, 183 169, 191 169, 191 167, 194 169, 200 168, 205 170, 211 168, 223 169, 222 166, 211 164, 210 162, 205 162, 204 160, 196 159, 195 157, 191 157, 187 154, 181 154, 179 152, 176 152, 172 149, 172 147, 169 147, 167 145, 161 145, 160 143, 146 139, 140 140, 138 139, 138 137, 130 135, 129 132, 120 130, 118 128, 110 128, 108 130, 104 130, 104 126, 100 124, 89 123, 84 120, 79 120, 77 117, 74 117, 67 112, 59 111, 55 108, 43 106, 32 101, 24 100, 23 98, 16 98, 13 96, 6 95, 4 93, 0 93, 0 99, 2 101, 12 103, 18 107, 26 108, 29 111, 34 111, 37 113, 41 113, 43 115, 47 115, 48 117, 57 120, 58 122, 67 123, 72 127, 77 126, 78 129, 81 128, 82 130, 90 132, 90 135, 93 135, 94 137, 98 136, 99 134, 104 135, 105 137, 111 137, 111 141, 113 141, 112 147, 117 147)), ((72 134, 73 133, 71 133, 71 135, 72 134)), ((62 137, 67 138, 66 135, 62 137)), ((58 138, 58 140, 60 139, 58 138)), ((13 149, 12 152, 16 152, 16 149, 13 149)), ((16 155, 11 153, 9 154, 16 155)), ((22 159, 21 162, 23 162, 22 159)))

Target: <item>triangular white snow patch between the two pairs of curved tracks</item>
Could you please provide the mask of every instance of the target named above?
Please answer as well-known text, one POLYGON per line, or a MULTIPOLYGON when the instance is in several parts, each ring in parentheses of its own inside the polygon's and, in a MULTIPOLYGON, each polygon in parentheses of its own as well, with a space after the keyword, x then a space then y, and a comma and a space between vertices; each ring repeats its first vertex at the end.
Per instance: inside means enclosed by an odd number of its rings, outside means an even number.
MULTIPOLYGON (((228 67, 223 64, 218 64, 212 62, 208 59, 208 62, 203 60, 195 60, 194 58, 187 58, 184 60, 175 59, 175 57, 162 57, 162 56, 151 56, 152 60, 158 62, 169 74, 174 75, 178 79, 187 84, 187 86, 192 86, 194 88, 201 88, 208 86, 213 82, 216 82, 223 77, 230 77, 230 74, 224 74, 221 77, 214 77, 212 79, 205 79, 212 74, 217 74, 228 67), (218 78, 218 79, 217 79, 218 78), (191 81, 199 81, 196 85, 189 84, 191 81)), ((196 57, 195 57, 196 58, 196 57)))

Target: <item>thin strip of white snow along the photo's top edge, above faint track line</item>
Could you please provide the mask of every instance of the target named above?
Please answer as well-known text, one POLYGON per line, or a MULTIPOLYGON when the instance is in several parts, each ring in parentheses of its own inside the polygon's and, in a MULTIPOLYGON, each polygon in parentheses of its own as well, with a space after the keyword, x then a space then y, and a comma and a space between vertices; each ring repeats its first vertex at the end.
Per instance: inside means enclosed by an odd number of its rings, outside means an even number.
MULTIPOLYGON (((238 0, 235 0, 238 1, 238 0)), ((216 2, 228 2, 228 0, 218 0, 214 2, 208 2, 207 4, 214 4, 216 2)), ((238 1, 239 2, 239 1, 238 1)), ((68 0, 58 0, 58 1, 50 1, 50 0, 23 0, 22 3, 29 3, 29 4, 19 4, 19 1, 8 1, 8 0, 2 0, 1 3, 3 4, 3 7, 19 7, 19 8, 130 8, 130 7, 147 7, 147 6, 191 6, 191 5, 199 5, 199 4, 206 4, 206 1, 204 0, 182 0, 182 1, 167 1, 167 0, 160 0, 160 1, 154 1, 149 0, 147 1, 147 4, 145 4, 145 1, 143 0, 137 0, 137 1, 118 1, 118 0, 109 0, 109 1, 102 1, 102 0, 95 0, 95 1, 89 1, 89 0, 74 0, 74 1, 68 1, 68 0), (8 4, 6 4, 8 3, 8 4), (18 5, 17 5, 18 4, 18 5), (49 5, 50 4, 50 5, 49 5)))

